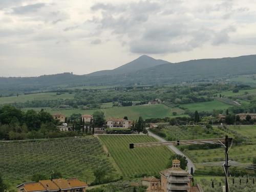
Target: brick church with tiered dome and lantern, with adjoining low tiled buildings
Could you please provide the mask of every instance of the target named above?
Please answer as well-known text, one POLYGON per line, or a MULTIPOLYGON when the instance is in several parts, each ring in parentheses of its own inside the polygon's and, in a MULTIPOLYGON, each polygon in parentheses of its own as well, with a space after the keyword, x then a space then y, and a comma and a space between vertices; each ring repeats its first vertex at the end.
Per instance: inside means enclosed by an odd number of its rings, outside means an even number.
POLYGON ((180 161, 173 160, 173 167, 160 172, 161 180, 156 178, 143 178, 142 184, 148 186, 148 192, 203 192, 198 184, 192 186, 192 175, 180 168, 180 161))

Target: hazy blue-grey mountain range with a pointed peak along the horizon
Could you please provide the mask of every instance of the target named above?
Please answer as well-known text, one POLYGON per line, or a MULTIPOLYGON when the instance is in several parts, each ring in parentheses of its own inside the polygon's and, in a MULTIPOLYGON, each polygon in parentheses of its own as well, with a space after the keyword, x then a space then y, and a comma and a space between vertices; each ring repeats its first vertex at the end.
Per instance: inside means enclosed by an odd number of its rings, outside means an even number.
POLYGON ((183 81, 214 79, 256 73, 256 55, 219 59, 198 59, 179 63, 146 55, 114 70, 87 75, 71 73, 39 77, 0 78, 0 90, 56 89, 72 86, 132 86, 134 84, 172 84, 183 81))

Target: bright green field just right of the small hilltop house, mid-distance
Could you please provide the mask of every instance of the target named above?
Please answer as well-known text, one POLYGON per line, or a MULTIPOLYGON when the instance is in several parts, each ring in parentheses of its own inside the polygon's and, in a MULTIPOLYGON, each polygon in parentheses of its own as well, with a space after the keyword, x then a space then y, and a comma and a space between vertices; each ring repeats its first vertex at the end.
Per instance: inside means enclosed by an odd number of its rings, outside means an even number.
POLYGON ((189 111, 198 111, 198 112, 212 112, 212 110, 225 110, 232 105, 223 103, 221 101, 213 100, 213 101, 205 101, 198 103, 188 103, 188 104, 180 104, 182 108, 188 109, 189 111))

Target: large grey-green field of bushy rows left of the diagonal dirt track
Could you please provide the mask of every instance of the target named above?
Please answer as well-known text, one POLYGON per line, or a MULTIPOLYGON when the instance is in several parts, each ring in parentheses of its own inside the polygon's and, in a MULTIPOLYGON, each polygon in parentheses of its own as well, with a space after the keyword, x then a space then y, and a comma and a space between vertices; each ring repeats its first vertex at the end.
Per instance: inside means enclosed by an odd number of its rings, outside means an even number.
POLYGON ((89 183, 97 167, 115 176, 97 138, 62 138, 41 141, 0 142, 0 173, 13 186, 31 181, 39 173, 50 175, 52 170, 64 178, 77 177, 89 183))

